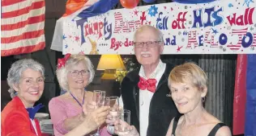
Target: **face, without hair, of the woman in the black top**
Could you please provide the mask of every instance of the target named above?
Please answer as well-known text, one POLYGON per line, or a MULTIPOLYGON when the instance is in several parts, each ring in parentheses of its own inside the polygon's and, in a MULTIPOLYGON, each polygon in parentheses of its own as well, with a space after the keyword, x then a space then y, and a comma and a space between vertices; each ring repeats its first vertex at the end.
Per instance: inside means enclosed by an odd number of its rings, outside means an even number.
POLYGON ((190 113, 198 106, 203 106, 202 97, 206 96, 206 91, 199 91, 188 83, 170 83, 171 96, 180 113, 190 113))

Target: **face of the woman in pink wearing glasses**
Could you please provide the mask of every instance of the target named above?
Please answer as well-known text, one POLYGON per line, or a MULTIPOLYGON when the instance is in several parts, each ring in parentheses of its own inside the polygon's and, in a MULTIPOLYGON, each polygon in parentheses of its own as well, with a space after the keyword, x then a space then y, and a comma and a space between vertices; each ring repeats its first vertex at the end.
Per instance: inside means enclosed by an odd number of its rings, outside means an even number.
POLYGON ((67 74, 67 82, 70 89, 84 89, 89 80, 90 74, 87 71, 86 64, 79 62, 79 64, 70 68, 67 74))

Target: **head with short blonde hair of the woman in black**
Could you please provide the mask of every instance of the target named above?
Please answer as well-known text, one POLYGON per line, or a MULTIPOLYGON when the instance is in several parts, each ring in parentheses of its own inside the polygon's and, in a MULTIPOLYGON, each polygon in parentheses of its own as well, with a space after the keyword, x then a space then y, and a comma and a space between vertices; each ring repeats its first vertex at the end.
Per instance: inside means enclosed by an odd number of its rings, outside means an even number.
POLYGON ((203 108, 202 98, 207 95, 207 75, 197 64, 177 65, 169 75, 171 97, 180 113, 203 108))

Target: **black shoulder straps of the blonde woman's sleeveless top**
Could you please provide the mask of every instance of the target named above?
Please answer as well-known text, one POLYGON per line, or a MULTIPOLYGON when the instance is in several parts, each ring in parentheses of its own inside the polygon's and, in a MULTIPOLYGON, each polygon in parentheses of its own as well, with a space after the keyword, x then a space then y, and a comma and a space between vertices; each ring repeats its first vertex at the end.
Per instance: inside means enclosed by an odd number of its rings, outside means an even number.
MULTIPOLYGON (((177 122, 179 121, 181 116, 175 117, 173 121, 173 131, 172 136, 175 136, 175 130, 177 128, 177 122)), ((224 123, 218 123, 214 126, 214 128, 211 130, 211 132, 208 134, 208 136, 215 136, 216 132, 220 129, 220 127, 226 126, 224 123)))

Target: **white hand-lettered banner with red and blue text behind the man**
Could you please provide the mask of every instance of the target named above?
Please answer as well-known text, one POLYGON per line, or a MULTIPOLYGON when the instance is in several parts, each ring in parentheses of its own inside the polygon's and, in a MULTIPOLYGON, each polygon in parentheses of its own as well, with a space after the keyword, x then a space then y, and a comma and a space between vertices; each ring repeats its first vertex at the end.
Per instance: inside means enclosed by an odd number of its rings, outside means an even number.
POLYGON ((255 54, 255 7, 250 0, 170 2, 66 20, 62 52, 134 54, 134 31, 149 24, 164 34, 163 54, 255 54))

